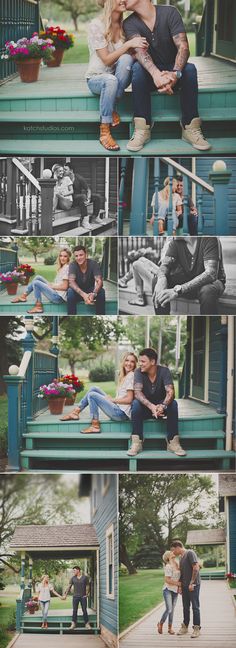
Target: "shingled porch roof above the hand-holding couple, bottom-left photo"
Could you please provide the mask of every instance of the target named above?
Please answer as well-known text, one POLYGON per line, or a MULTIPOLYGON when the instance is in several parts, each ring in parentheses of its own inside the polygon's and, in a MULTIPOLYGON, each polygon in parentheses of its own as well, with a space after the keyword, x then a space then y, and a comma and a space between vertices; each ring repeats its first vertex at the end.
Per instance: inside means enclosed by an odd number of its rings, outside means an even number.
POLYGON ((99 542, 93 524, 67 524, 58 526, 17 526, 10 546, 12 549, 90 548, 99 542))

